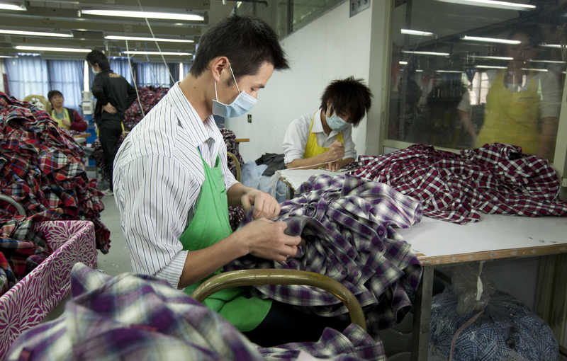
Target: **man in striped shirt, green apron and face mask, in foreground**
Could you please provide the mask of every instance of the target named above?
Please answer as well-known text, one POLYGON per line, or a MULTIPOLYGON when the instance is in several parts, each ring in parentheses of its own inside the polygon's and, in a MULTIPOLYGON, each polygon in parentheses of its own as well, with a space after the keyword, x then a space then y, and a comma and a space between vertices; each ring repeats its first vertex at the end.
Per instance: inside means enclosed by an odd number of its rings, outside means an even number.
MULTIPOLYGON (((287 236, 285 223, 270 220, 280 212, 274 197, 238 183, 228 170, 213 119, 246 113, 274 69, 286 68, 269 25, 231 16, 203 34, 190 73, 126 137, 113 183, 135 272, 190 294, 241 256, 284 261, 296 255, 300 237, 287 236), (254 221, 231 233, 227 202, 253 209, 254 221)), ((271 300, 242 289, 218 292, 205 303, 245 332, 272 308, 271 300)))

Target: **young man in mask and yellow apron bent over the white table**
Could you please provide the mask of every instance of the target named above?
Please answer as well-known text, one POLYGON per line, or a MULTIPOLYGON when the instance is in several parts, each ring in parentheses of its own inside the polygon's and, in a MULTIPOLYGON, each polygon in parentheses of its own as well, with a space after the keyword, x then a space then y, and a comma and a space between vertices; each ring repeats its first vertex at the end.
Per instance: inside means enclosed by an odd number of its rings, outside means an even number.
POLYGON ((283 137, 284 161, 288 168, 325 168, 338 171, 354 161, 352 142, 356 127, 371 105, 372 93, 362 79, 332 81, 323 92, 315 113, 293 120, 283 137))

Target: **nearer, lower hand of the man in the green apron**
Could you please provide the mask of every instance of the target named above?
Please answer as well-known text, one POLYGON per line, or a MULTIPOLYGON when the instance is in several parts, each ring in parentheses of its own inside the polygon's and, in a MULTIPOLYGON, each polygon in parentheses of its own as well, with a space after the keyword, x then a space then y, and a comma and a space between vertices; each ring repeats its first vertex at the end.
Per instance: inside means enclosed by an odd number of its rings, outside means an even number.
MULTIPOLYGON (((264 193, 265 194, 265 193, 264 193)), ((283 231, 287 228, 284 222, 273 222, 269 219, 257 219, 235 231, 247 242, 252 255, 284 262, 288 257, 296 256, 300 236, 288 236, 283 231)))

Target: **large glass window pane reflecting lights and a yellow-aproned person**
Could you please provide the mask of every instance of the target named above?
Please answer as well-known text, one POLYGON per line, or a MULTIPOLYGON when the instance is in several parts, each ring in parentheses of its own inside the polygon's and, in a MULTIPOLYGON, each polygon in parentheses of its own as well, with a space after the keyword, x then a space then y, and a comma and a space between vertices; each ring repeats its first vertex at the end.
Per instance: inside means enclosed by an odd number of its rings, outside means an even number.
POLYGON ((524 10, 449 0, 395 4, 386 146, 500 142, 553 159, 565 11, 544 0, 524 10))

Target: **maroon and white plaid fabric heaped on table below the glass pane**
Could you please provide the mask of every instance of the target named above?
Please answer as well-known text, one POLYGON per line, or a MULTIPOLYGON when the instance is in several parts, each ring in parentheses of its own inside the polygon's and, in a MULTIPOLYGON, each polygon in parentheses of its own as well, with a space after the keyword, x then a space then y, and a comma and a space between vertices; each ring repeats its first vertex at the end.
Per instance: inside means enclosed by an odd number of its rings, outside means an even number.
POLYGON ((427 217, 457 224, 481 213, 565 216, 554 168, 520 147, 485 144, 461 154, 417 144, 383 156, 359 156, 349 174, 386 183, 415 197, 427 217))

